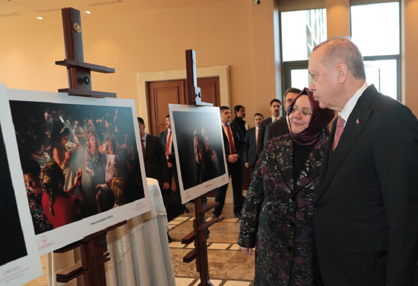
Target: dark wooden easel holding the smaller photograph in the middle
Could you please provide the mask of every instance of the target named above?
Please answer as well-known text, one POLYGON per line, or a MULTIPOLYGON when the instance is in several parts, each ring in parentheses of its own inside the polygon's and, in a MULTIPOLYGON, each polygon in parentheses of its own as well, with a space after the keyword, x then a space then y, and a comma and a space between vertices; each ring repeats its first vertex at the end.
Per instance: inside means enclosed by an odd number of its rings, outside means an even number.
MULTIPOLYGON (((189 105, 213 106, 208 102, 202 102, 202 93, 197 87, 196 77, 196 52, 186 50, 186 73, 187 73, 187 99, 189 105)), ((209 227, 219 221, 213 218, 209 222, 205 220, 205 213, 217 206, 218 202, 208 203, 205 195, 194 200, 195 219, 193 220, 193 231, 181 239, 182 244, 189 244, 194 241, 195 248, 183 257, 183 262, 189 263, 196 258, 196 271, 200 274, 200 286, 213 286, 209 279, 208 267, 208 246, 209 227)))

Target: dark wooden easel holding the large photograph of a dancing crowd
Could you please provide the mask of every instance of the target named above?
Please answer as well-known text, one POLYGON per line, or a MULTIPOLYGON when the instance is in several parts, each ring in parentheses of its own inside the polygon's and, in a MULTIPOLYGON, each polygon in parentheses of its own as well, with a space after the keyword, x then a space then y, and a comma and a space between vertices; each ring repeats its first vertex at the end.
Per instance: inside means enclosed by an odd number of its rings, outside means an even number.
MULTIPOLYGON (((74 8, 63 8, 61 11, 66 58, 55 63, 67 67, 69 88, 62 88, 58 91, 77 96, 116 97, 116 93, 91 90, 91 71, 114 73, 115 69, 84 62, 80 11, 74 8)), ((83 275, 86 286, 106 285, 104 263, 110 260, 106 234, 124 224, 126 221, 92 233, 80 241, 55 250, 55 253, 64 253, 80 247, 82 257, 81 262, 57 273, 57 282, 69 282, 83 275)))

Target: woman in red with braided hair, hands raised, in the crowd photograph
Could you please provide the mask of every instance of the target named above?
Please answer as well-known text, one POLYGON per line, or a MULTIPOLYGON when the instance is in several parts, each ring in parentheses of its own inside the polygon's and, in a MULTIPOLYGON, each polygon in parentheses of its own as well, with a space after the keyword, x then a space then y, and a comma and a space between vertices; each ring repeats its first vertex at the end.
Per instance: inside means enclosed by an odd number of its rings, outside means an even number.
POLYGON ((81 168, 77 171, 74 185, 68 190, 64 190, 64 172, 54 161, 45 163, 41 170, 40 179, 44 192, 42 206, 54 229, 82 219, 86 196, 81 184, 81 168), (73 195, 77 188, 80 197, 73 195))

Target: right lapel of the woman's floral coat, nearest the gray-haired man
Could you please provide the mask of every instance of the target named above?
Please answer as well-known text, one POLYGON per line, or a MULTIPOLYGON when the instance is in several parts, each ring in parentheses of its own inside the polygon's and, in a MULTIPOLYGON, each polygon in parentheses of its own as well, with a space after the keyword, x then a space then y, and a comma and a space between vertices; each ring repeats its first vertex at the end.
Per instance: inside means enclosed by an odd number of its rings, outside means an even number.
POLYGON ((300 172, 298 181, 296 182, 297 192, 303 189, 319 174, 326 144, 327 137, 324 134, 321 134, 309 154, 307 164, 305 164, 300 172))

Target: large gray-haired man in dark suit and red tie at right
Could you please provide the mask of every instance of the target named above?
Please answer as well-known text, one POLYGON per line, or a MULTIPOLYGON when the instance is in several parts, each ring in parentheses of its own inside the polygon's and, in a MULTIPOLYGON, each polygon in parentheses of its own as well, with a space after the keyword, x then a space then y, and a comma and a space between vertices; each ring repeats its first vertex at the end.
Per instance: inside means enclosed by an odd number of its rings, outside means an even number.
POLYGON ((363 58, 346 38, 315 47, 308 71, 320 107, 340 113, 313 212, 324 284, 417 285, 417 118, 367 85, 363 58))

